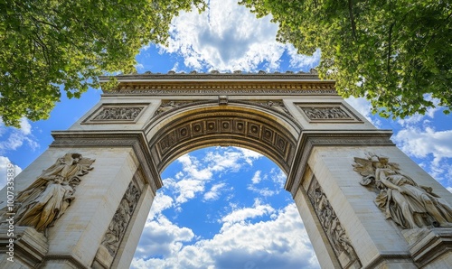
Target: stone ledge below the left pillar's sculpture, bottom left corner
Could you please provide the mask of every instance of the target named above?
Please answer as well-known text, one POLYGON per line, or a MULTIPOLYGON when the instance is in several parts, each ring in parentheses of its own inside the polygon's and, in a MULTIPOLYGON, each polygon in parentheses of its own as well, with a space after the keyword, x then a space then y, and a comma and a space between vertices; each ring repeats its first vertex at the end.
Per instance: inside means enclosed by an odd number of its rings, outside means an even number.
POLYGON ((0 227, 0 268, 37 268, 49 250, 47 238, 33 227, 0 227), (11 236, 11 237, 9 237, 11 236), (14 241, 11 244, 11 240, 14 241))

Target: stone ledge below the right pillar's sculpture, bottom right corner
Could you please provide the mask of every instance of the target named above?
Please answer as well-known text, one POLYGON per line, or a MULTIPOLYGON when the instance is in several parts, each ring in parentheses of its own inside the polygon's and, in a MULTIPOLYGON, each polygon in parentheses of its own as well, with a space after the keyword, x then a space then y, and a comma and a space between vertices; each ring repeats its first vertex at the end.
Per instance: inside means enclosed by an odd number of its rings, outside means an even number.
POLYGON ((410 229, 402 234, 419 267, 443 268, 443 265, 452 264, 452 227, 410 229))

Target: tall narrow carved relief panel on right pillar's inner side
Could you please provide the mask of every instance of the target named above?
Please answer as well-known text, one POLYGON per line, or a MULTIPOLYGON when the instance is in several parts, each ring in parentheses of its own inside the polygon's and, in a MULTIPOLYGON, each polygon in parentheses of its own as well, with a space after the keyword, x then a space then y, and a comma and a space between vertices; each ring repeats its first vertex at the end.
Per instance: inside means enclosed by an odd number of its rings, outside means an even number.
POLYGON ((344 227, 315 178, 311 181, 307 192, 309 200, 315 209, 315 215, 342 268, 361 267, 361 262, 354 251, 349 237, 345 233, 344 227))

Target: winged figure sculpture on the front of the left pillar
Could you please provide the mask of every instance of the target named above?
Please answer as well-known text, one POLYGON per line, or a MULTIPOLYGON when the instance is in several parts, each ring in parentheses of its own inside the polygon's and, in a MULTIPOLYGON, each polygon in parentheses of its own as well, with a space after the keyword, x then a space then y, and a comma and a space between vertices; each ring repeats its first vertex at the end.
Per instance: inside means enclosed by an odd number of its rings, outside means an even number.
POLYGON ((34 227, 39 232, 51 227, 71 205, 80 176, 93 169, 90 165, 94 161, 79 153, 66 153, 44 170, 32 185, 18 193, 16 225, 34 227))

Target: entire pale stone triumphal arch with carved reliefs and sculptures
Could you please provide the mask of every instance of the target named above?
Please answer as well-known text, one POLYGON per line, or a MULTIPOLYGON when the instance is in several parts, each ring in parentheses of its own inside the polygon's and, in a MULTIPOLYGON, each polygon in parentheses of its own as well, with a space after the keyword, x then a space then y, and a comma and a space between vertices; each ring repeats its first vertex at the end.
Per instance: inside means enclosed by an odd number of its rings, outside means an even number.
POLYGON ((315 71, 117 79, 69 130, 52 133, 14 180, 14 199, 8 186, 0 192, 1 268, 127 268, 160 173, 211 145, 249 148, 286 172, 322 268, 452 264, 452 195, 334 81, 315 71))

